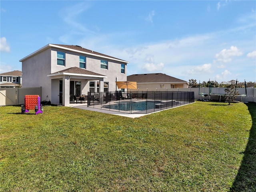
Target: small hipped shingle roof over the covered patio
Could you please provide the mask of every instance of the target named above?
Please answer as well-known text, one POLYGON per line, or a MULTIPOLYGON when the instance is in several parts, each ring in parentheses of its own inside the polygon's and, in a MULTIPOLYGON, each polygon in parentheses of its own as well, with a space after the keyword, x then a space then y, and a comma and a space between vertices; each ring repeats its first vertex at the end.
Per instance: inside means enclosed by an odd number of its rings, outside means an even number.
POLYGON ((91 72, 91 71, 88 71, 86 69, 82 69, 82 68, 79 68, 79 67, 71 67, 71 68, 68 68, 68 69, 64 69, 64 70, 49 74, 48 76, 55 76, 55 75, 60 75, 60 74, 63 74, 63 75, 65 75, 65 74, 66 75, 77 74, 77 75, 81 75, 81 76, 84 75, 84 76, 93 76, 93 77, 100 76, 100 77, 103 77, 103 78, 107 77, 107 76, 104 76, 102 74, 94 73, 94 72, 91 72))

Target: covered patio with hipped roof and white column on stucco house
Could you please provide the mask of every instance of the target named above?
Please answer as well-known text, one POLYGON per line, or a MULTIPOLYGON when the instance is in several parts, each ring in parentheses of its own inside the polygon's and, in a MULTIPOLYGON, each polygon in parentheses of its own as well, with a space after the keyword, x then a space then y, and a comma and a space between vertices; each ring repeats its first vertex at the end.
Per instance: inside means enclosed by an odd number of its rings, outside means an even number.
MULTIPOLYGON (((49 74, 52 100, 63 106, 84 102, 88 92, 104 91, 104 76, 82 68, 72 67, 49 74), (84 99, 84 100, 83 100, 84 99)), ((105 83, 106 84, 106 83, 105 83)))

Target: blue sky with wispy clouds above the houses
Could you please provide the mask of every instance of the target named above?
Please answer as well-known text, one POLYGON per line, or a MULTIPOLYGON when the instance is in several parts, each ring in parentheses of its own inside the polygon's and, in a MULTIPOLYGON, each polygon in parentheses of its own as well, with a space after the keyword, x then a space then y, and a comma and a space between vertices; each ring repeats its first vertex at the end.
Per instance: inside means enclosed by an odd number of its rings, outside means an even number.
POLYGON ((129 62, 127 74, 256 81, 256 1, 0 1, 0 73, 46 44, 129 62))

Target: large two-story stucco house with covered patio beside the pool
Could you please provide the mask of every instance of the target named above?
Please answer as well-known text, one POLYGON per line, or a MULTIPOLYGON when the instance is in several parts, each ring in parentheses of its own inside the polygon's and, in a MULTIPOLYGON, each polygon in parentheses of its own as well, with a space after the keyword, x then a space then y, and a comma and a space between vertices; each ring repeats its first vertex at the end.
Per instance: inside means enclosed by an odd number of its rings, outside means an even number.
POLYGON ((22 87, 42 87, 42 98, 70 105, 74 95, 116 90, 127 61, 76 45, 48 44, 22 58, 22 87))

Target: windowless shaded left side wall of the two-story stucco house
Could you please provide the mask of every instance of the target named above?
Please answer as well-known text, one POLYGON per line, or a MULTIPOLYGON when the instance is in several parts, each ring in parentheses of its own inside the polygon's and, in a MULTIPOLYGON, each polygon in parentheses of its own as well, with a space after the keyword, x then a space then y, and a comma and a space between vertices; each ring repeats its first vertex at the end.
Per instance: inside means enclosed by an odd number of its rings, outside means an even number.
POLYGON ((42 87, 42 98, 51 98, 51 49, 48 48, 22 61, 22 87, 42 87))

